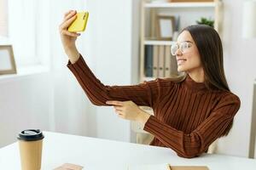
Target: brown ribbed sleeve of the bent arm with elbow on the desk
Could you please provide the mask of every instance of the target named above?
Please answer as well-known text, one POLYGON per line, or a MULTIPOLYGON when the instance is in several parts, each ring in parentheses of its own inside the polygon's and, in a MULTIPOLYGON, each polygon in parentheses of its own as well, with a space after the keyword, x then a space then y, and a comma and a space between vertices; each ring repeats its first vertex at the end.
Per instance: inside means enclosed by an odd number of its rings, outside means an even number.
POLYGON ((149 117, 144 130, 152 133, 166 147, 175 150, 178 156, 191 158, 201 155, 215 139, 224 134, 239 107, 239 98, 230 94, 221 99, 211 115, 191 133, 178 131, 155 116, 149 117))

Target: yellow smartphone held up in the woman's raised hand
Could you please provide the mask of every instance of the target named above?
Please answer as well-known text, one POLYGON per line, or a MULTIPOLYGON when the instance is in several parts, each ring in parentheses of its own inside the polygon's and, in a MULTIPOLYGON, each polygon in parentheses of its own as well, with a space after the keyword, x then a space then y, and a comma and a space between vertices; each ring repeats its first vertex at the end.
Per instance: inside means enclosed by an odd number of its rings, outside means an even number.
POLYGON ((71 32, 84 31, 87 24, 88 17, 89 17, 88 12, 77 13, 76 20, 74 20, 73 23, 71 23, 71 25, 67 28, 67 31, 71 31, 71 32))

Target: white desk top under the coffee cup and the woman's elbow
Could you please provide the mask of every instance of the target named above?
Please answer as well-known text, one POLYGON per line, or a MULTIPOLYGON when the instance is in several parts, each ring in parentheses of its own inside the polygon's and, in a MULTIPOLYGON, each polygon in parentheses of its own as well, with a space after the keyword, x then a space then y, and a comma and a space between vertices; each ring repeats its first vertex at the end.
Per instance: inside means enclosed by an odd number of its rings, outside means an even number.
MULTIPOLYGON (((202 165, 210 170, 255 170, 256 160, 234 156, 203 155, 198 158, 178 157, 167 148, 94 139, 62 133, 44 132, 42 169, 50 170, 63 163, 84 166, 84 170, 127 170, 128 164, 166 163, 202 165), (104 168, 103 168, 104 167, 104 168)), ((18 144, 0 149, 0 169, 19 170, 18 144)))

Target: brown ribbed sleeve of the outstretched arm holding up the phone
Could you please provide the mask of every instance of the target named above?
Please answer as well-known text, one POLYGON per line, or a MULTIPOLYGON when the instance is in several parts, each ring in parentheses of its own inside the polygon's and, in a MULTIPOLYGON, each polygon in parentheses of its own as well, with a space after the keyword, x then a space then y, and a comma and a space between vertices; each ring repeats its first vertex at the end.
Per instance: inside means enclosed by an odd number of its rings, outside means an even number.
POLYGON ((99 81, 90 71, 80 55, 74 64, 68 61, 67 67, 73 72, 85 94, 94 105, 106 105, 107 100, 132 100, 137 105, 153 107, 158 98, 158 80, 143 82, 133 86, 108 86, 99 81))

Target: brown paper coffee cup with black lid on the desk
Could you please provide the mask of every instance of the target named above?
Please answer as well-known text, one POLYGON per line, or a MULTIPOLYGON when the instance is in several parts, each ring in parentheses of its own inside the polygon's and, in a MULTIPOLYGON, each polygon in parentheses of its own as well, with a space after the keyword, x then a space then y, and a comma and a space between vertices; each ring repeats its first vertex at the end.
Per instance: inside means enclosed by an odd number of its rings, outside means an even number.
POLYGON ((40 130, 27 129, 18 135, 22 170, 40 170, 44 134, 40 130))

